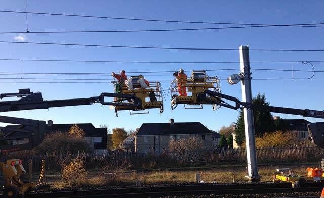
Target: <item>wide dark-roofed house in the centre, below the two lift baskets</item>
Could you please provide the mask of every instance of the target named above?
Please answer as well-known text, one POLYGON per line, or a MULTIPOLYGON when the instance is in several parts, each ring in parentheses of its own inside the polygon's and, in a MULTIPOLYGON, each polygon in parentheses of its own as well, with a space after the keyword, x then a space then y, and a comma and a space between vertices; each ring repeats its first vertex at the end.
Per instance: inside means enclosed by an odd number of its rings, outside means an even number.
POLYGON ((213 148, 213 132, 200 122, 143 123, 121 144, 137 153, 160 153, 169 149, 170 140, 197 137, 206 149, 213 148))

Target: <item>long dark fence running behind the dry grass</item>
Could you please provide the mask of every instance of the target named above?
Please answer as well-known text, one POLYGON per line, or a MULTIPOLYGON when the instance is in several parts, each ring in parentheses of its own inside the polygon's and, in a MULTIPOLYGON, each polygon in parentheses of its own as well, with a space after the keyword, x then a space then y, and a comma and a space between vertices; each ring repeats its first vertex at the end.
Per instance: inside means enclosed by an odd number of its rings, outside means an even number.
MULTIPOLYGON (((315 146, 287 146, 287 147, 262 147, 256 149, 258 163, 309 163, 320 162, 324 157, 324 150, 315 146)), ((46 169, 59 171, 61 163, 75 156, 6 156, 0 158, 22 159, 26 170, 29 168, 29 159, 32 159, 33 171, 39 172, 42 168, 42 158, 46 160, 46 169)), ((246 163, 246 148, 228 149, 218 148, 213 151, 190 152, 163 152, 163 153, 131 153, 108 152, 102 155, 85 154, 85 166, 87 169, 102 169, 103 167, 136 168, 163 168, 191 166, 196 162, 217 164, 219 162, 246 163)))

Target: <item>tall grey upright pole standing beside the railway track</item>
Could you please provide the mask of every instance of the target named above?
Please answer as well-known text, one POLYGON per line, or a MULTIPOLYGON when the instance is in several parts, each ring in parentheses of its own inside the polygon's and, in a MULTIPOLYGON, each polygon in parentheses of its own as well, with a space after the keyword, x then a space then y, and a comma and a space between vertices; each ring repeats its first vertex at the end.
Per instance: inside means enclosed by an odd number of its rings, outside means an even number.
MULTIPOLYGON (((239 47, 239 57, 241 66, 241 85, 242 85, 242 102, 252 104, 252 91, 251 91, 251 73, 250 73, 250 58, 249 58, 249 46, 239 47)), ((244 127, 245 127, 245 140, 247 146, 247 158, 248 158, 248 178, 249 182, 260 181, 258 175, 258 163, 255 147, 255 132, 254 132, 254 119, 253 110, 244 108, 244 127)))

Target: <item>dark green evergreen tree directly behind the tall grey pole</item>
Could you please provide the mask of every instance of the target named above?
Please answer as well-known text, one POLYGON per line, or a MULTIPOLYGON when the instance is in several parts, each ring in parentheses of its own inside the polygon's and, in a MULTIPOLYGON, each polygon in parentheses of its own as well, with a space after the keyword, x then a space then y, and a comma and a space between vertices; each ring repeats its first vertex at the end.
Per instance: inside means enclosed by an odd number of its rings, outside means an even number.
MULTIPOLYGON (((258 93, 257 97, 252 98, 252 104, 269 106, 269 102, 266 102, 265 94, 258 93)), ((256 111, 253 110, 254 118, 254 131, 257 137, 262 137, 263 134, 276 131, 276 125, 273 120, 273 116, 269 111, 256 111)), ((245 141, 245 128, 244 128, 244 115, 243 110, 240 110, 237 122, 235 123, 237 128, 235 130, 237 145, 241 146, 245 141)))

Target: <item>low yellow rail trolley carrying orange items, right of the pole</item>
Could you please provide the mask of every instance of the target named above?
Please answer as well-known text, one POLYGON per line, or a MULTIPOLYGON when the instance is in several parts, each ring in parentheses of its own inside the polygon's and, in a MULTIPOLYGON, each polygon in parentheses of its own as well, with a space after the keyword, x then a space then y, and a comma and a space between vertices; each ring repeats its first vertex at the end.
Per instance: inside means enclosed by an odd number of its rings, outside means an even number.
POLYGON ((307 176, 307 175, 295 175, 289 168, 277 169, 281 174, 273 175, 273 182, 291 182, 294 188, 299 188, 301 185, 306 184, 306 182, 323 182, 324 177, 322 174, 317 176, 307 176))

